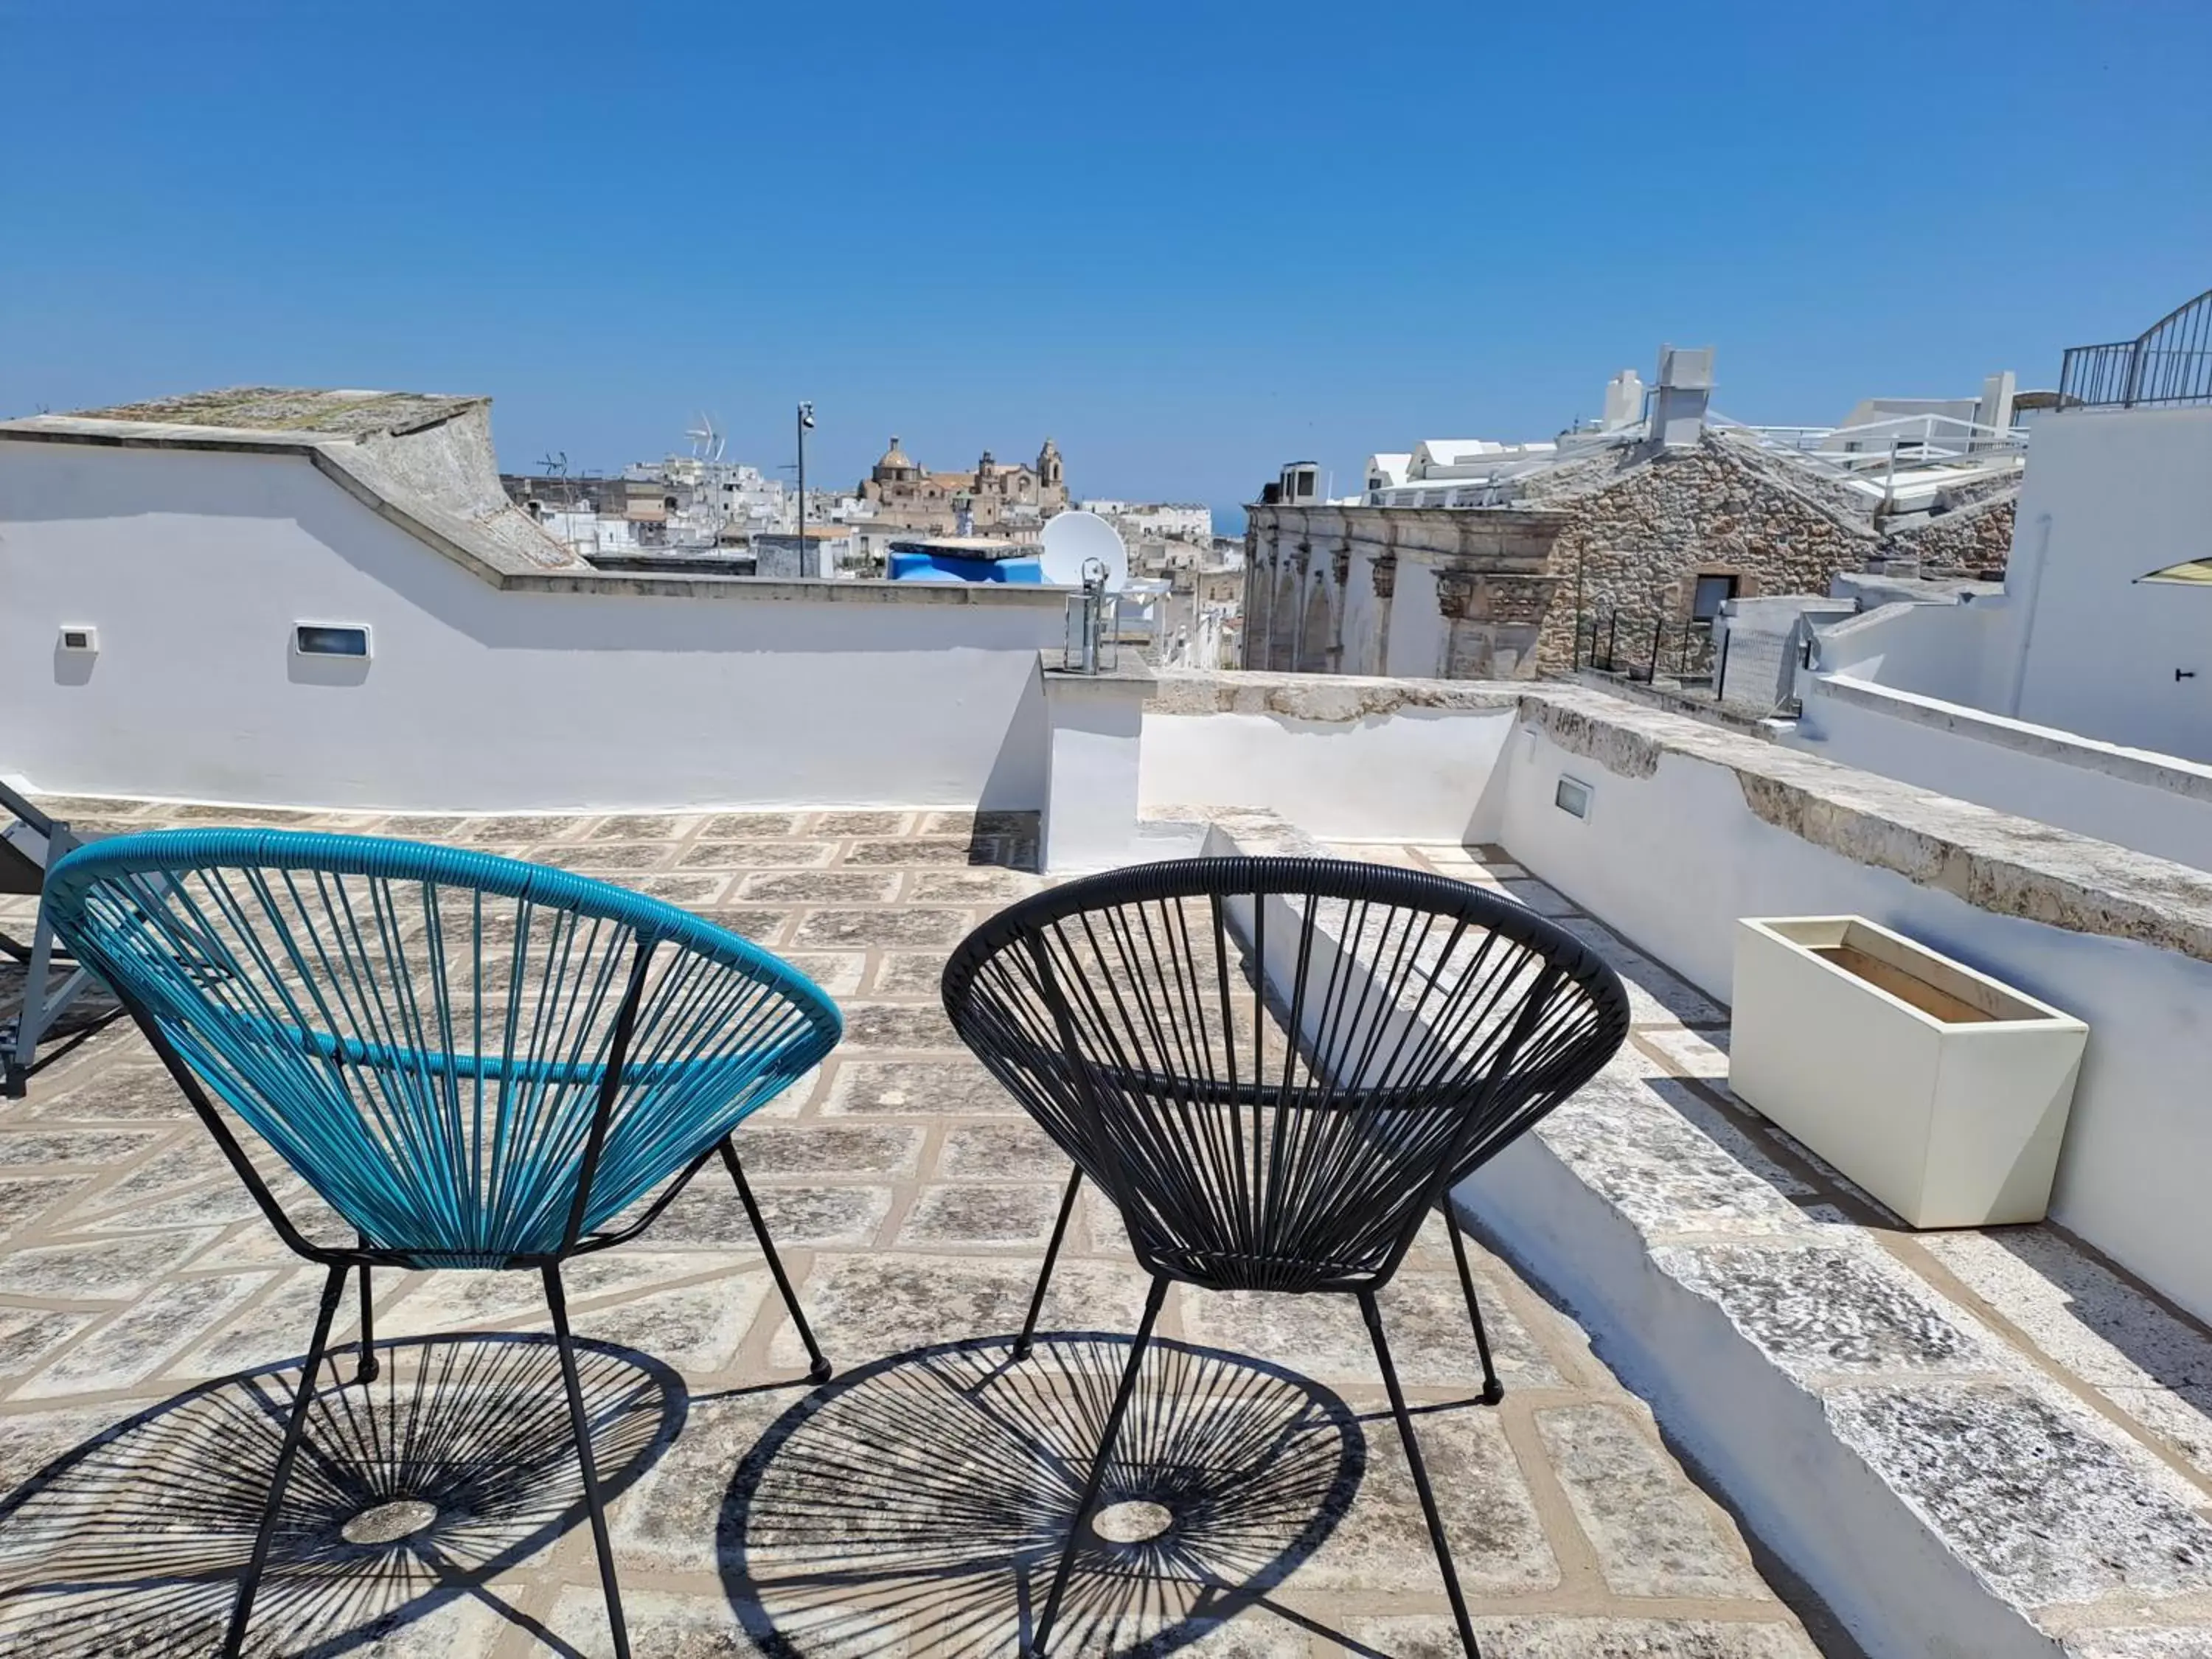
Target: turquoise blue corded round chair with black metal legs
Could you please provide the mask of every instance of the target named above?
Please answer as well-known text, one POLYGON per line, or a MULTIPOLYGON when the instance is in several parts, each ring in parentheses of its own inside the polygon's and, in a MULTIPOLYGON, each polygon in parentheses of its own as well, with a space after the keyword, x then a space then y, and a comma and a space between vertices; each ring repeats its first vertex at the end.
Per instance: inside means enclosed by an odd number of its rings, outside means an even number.
POLYGON ((46 898, 276 1234, 330 1270, 223 1650, 246 1639, 347 1272, 369 1378, 372 1267, 535 1267, 626 1659, 560 1265, 644 1232, 719 1152, 825 1380, 730 1133, 836 1046, 836 1004, 672 905, 407 841, 161 830, 69 854, 46 898), (285 1214, 234 1119, 352 1243, 285 1214))

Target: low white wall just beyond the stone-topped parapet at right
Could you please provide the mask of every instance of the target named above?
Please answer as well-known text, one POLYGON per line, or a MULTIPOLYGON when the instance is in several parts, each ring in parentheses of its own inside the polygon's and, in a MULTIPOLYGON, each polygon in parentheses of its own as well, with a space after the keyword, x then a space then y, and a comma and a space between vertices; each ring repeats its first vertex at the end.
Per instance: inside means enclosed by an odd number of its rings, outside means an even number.
POLYGON ((2212 765, 1911 697, 1807 679, 1783 741, 1922 790, 2212 869, 2212 765), (1869 708, 1867 701, 1882 703, 1869 708))

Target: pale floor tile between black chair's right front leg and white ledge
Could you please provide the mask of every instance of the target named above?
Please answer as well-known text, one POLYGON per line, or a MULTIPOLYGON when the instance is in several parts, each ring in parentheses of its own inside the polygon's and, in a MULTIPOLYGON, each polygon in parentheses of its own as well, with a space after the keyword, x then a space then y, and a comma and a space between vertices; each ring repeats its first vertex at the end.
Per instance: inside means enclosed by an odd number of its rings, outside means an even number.
POLYGON ((1535 1413, 1597 1571, 1617 1595, 1767 1599, 1734 1537, 1657 1438, 1613 1405, 1535 1413))

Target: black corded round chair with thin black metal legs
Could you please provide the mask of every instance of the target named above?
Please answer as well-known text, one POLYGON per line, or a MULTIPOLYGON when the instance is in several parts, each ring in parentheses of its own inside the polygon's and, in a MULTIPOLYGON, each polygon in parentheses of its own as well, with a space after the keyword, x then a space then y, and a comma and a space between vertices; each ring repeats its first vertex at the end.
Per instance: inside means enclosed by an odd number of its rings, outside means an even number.
MULTIPOLYGON (((1542 916, 1442 876, 1186 858, 1000 911, 947 962, 945 1011, 1075 1161, 1015 1356, 1086 1177, 1152 1276, 1031 1652, 1046 1650, 1152 1323, 1183 1281, 1358 1298, 1475 1655, 1376 1292, 1429 1210, 1621 1046, 1619 975, 1542 916)), ((1495 1402, 1467 1245, 1449 1232, 1495 1402)))

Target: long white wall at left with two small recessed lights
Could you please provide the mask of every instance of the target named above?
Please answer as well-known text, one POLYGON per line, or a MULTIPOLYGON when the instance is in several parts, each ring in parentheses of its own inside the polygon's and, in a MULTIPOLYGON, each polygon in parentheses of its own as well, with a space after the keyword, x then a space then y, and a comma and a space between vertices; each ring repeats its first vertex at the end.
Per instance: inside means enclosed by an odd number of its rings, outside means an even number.
POLYGON ((440 812, 1042 805, 1057 604, 741 593, 498 591, 305 458, 0 442, 0 772, 440 812), (296 622, 369 624, 376 655, 299 659, 296 622), (100 655, 58 653, 64 624, 100 655))

